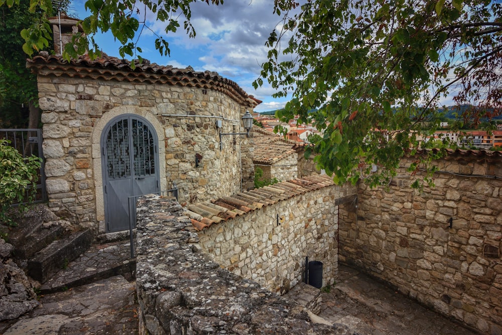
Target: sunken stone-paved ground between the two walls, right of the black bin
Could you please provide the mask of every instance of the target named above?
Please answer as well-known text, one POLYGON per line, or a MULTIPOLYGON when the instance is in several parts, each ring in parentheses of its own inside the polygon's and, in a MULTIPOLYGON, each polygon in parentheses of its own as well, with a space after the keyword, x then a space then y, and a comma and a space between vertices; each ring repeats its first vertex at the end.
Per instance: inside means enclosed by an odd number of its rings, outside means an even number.
POLYGON ((319 316, 360 334, 476 334, 343 265, 338 266, 336 285, 321 297, 319 316))

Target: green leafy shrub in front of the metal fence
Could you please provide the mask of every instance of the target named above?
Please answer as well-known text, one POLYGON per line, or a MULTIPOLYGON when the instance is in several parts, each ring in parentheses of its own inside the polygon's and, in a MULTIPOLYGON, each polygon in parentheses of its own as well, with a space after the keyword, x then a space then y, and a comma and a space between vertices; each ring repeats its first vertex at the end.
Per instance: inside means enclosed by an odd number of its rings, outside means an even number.
POLYGON ((8 216, 9 209, 16 202, 31 202, 35 199, 40 158, 24 158, 9 143, 0 140, 0 223, 15 226, 8 216))

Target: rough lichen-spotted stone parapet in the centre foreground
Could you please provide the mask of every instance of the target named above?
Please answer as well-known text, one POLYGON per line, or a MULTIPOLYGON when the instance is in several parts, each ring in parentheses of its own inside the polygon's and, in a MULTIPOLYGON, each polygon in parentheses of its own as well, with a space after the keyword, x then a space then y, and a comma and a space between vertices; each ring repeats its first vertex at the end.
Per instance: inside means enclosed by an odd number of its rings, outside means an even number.
POLYGON ((140 334, 353 333, 212 262, 174 198, 141 198, 137 227, 140 334))

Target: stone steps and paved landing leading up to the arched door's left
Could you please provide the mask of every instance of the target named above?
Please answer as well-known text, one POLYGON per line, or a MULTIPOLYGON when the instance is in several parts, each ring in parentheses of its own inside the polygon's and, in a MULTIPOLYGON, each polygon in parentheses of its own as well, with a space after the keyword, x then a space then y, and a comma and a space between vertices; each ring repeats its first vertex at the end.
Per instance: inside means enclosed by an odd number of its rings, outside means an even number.
POLYGON ((91 230, 69 231, 70 223, 59 219, 45 205, 35 206, 18 221, 18 227, 9 231, 9 243, 14 246, 17 263, 40 282, 40 293, 66 290, 115 275, 134 279, 136 260, 131 259, 129 240, 101 240, 93 244, 91 230))

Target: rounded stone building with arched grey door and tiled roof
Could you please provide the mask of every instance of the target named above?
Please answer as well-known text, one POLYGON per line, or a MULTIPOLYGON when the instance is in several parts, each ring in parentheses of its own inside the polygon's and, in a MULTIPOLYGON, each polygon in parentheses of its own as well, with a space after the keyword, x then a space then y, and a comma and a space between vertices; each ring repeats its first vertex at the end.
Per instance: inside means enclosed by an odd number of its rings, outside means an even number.
POLYGON ((261 101, 216 72, 103 56, 29 59, 42 109, 49 206, 104 232, 129 228, 131 196, 176 186, 181 203, 253 187, 261 101))

